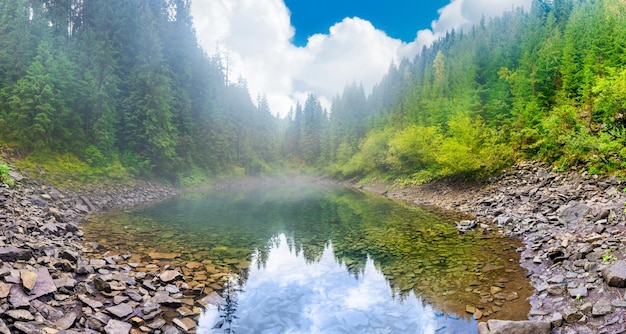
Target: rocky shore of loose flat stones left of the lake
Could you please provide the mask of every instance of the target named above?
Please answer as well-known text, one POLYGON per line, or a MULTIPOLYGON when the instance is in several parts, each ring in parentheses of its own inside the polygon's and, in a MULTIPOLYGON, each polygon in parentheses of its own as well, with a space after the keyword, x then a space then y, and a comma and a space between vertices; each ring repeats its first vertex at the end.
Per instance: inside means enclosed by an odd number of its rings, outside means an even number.
POLYGON ((202 307, 222 302, 187 285, 195 264, 171 265, 176 254, 135 262, 85 244, 79 224, 89 214, 175 190, 141 183, 72 193, 12 176, 14 188, 0 185, 0 334, 193 333, 202 307))

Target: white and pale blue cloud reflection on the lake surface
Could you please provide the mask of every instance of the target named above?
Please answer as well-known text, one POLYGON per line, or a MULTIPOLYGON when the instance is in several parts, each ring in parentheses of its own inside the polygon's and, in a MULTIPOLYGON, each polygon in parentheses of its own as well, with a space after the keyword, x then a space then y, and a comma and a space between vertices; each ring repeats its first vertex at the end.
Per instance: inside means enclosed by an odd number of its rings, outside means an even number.
MULTIPOLYGON (((253 256, 239 293, 234 333, 476 333, 476 321, 458 319, 424 305, 412 292, 402 299, 368 257, 358 278, 337 263, 332 245, 318 261, 278 236, 267 261, 253 256)), ((217 309, 201 317, 198 333, 213 330, 217 309)))

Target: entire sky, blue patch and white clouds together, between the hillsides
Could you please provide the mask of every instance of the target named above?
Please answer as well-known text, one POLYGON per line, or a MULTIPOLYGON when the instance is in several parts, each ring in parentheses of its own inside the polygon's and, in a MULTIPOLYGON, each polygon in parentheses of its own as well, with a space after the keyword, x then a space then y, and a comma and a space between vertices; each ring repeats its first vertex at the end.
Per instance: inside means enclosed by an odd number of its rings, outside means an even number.
POLYGON ((286 115, 315 94, 325 107, 349 83, 369 93, 390 64, 413 59, 451 29, 532 0, 194 0, 200 45, 228 60, 251 97, 286 115))

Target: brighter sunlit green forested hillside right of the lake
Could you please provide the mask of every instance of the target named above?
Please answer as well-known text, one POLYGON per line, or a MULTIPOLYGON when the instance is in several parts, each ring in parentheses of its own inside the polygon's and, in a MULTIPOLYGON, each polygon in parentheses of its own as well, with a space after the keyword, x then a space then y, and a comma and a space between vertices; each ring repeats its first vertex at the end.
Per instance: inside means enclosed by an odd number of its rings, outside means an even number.
POLYGON ((536 0, 392 66, 367 101, 348 87, 322 160, 406 182, 519 159, 624 174, 625 65, 624 1, 536 0))

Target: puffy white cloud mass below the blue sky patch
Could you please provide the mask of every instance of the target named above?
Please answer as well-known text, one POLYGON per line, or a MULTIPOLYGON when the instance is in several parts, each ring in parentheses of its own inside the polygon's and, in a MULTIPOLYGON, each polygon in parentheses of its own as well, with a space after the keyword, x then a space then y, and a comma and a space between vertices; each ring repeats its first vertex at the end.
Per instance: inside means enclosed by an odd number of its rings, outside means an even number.
POLYGON ((369 91, 392 61, 411 59, 446 31, 471 27, 515 7, 528 8, 531 1, 453 0, 439 10, 431 29, 416 29, 411 43, 387 36, 367 20, 345 18, 311 36, 304 47, 292 43, 295 28, 283 0, 196 0, 192 11, 205 51, 228 54, 230 80, 243 76, 253 98, 266 95, 272 111, 286 115, 309 93, 328 107, 348 83, 362 83, 369 91))

